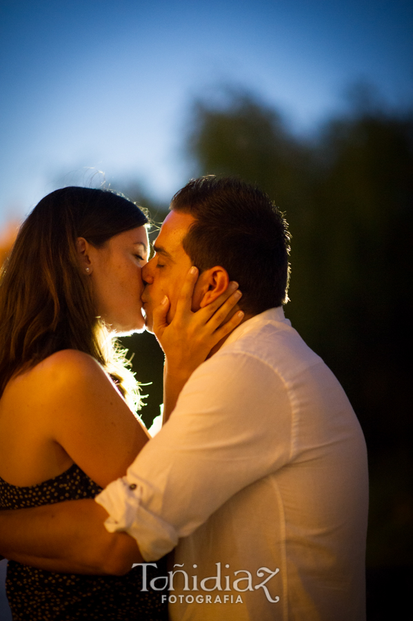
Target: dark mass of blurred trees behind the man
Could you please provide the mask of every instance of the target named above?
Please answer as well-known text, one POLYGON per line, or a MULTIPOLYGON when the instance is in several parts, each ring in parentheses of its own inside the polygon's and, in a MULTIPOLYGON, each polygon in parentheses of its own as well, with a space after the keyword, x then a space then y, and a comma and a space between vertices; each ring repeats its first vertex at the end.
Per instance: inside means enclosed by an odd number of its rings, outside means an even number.
POLYGON ((216 106, 198 101, 187 149, 198 175, 237 175, 286 212, 286 313, 339 377, 367 440, 367 560, 411 565, 413 118, 383 112, 371 91, 361 95, 313 141, 293 137, 250 93, 216 106))

